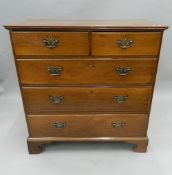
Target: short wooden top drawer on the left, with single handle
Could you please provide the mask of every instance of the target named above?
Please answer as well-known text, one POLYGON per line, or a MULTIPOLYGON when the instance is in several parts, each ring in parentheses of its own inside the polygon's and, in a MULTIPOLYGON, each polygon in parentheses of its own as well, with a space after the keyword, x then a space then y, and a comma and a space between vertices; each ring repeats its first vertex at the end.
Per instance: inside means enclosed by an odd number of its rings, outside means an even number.
POLYGON ((88 55, 87 32, 12 32, 16 56, 88 55))

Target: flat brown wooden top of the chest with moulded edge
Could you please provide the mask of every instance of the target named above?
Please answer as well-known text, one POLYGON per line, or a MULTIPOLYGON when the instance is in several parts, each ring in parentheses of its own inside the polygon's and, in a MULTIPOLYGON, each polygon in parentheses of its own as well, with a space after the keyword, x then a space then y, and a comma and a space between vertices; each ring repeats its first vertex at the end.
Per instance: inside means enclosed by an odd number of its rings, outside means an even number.
POLYGON ((55 20, 28 19, 4 26, 9 30, 165 30, 168 27, 148 20, 55 20))

